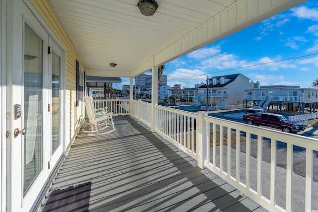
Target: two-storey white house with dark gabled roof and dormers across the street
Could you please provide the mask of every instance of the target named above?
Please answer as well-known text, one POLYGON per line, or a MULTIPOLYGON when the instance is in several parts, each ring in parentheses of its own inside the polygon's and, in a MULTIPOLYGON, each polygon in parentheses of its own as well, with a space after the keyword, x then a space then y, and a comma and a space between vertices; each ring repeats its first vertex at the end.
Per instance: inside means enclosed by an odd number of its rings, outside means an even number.
POLYGON ((240 104, 245 90, 251 88, 249 78, 241 73, 213 76, 208 83, 208 89, 206 84, 198 87, 196 101, 206 105, 208 99, 209 106, 240 104))

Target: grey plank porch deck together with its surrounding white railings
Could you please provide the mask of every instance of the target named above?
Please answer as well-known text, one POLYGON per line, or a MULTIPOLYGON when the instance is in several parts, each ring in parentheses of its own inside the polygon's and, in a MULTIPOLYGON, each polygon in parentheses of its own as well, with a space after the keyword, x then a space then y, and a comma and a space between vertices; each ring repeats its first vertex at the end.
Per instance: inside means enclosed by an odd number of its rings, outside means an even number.
POLYGON ((116 131, 81 130, 50 190, 91 182, 91 211, 318 207, 317 139, 140 100, 94 101, 122 115, 116 131))

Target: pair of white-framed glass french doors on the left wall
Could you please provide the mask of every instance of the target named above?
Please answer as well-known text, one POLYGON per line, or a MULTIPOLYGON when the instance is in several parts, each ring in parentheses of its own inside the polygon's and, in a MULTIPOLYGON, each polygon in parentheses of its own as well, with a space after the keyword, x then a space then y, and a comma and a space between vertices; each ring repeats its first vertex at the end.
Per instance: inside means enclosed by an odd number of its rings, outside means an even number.
POLYGON ((32 209, 63 153, 63 52, 22 0, 8 4, 14 12, 8 20, 12 24, 7 55, 12 70, 7 93, 12 138, 7 207, 22 212, 32 209))

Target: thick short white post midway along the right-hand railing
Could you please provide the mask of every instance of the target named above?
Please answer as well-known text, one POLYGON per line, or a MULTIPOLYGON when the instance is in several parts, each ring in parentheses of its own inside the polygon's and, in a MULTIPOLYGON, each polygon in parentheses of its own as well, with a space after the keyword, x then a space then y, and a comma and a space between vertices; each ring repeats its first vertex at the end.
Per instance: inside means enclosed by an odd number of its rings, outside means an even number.
POLYGON ((204 167, 204 161, 207 158, 207 123, 203 120, 204 116, 207 116, 208 112, 198 111, 198 119, 196 121, 196 145, 197 145, 197 158, 198 166, 202 169, 204 167))

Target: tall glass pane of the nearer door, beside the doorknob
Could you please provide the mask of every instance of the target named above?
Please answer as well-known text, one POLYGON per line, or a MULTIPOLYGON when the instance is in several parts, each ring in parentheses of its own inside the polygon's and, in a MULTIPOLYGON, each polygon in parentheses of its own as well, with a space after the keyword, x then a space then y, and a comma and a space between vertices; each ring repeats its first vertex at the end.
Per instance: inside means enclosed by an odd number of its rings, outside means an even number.
POLYGON ((27 25, 24 27, 24 149, 23 194, 43 167, 42 82, 43 40, 27 25))

